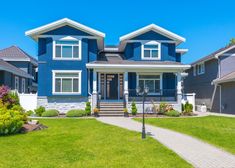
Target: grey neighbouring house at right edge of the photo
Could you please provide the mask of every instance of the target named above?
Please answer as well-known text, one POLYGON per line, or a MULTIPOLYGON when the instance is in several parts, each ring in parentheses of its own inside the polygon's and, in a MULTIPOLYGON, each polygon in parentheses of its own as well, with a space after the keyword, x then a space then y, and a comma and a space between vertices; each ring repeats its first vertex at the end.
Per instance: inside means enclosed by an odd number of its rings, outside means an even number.
POLYGON ((209 111, 235 114, 235 45, 221 48, 191 64, 185 92, 196 93, 196 104, 209 111))

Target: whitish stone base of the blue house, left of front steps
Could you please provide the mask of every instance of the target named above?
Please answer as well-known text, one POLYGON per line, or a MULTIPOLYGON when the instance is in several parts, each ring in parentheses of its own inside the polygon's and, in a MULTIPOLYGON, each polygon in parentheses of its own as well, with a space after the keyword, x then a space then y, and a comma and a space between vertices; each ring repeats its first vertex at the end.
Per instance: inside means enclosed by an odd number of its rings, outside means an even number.
POLYGON ((71 109, 85 109, 88 98, 85 97, 38 97, 37 106, 56 109, 60 113, 67 113, 71 109))

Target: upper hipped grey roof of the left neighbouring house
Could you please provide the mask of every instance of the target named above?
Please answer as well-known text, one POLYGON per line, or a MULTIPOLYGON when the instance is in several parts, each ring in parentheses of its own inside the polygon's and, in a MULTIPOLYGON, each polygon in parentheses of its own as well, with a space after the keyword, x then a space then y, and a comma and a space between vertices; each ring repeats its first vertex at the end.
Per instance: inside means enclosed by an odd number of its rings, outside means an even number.
POLYGON ((38 65, 37 60, 17 46, 11 46, 0 50, 0 59, 4 61, 28 61, 38 65))

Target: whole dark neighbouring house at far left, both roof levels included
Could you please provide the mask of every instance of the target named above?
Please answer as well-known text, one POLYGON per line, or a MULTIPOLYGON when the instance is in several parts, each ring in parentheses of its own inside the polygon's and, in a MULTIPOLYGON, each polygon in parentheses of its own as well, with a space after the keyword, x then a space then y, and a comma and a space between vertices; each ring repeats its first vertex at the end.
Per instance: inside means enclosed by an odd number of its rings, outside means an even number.
POLYGON ((0 50, 0 85, 19 93, 37 92, 37 60, 17 46, 0 50))

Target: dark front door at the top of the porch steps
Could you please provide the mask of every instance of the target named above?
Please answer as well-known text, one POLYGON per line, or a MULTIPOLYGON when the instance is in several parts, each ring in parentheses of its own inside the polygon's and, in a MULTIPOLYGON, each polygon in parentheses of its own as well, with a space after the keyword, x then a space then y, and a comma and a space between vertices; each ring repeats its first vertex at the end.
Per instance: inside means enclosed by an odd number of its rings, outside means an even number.
POLYGON ((118 99, 118 74, 106 74, 106 99, 118 99))

